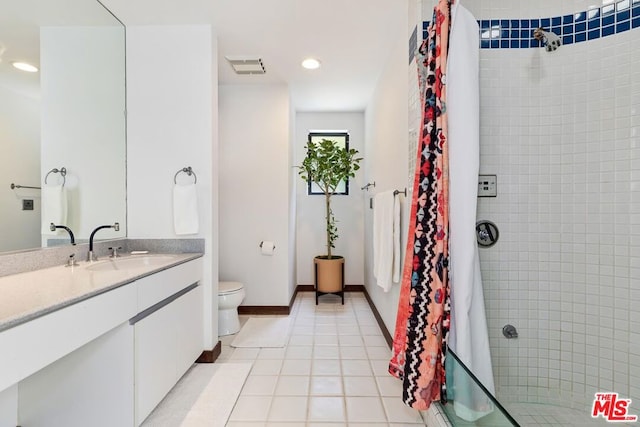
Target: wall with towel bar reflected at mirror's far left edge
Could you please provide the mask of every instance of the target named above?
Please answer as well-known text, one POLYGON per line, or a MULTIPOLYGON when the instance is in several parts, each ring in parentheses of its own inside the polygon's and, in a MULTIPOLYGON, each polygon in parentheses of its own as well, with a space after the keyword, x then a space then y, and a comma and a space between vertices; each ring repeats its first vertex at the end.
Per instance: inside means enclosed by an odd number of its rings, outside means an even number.
POLYGON ((40 101, 0 86, 0 252, 40 247, 40 101), (34 201, 23 211, 22 199, 34 201))

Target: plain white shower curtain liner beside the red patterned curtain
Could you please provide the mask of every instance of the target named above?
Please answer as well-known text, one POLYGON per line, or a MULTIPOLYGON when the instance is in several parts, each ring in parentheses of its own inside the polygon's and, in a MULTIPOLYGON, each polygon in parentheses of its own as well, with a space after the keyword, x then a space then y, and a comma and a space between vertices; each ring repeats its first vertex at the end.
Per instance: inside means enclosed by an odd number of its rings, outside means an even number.
MULTIPOLYGON (((480 163, 479 28, 473 15, 459 2, 452 6, 451 16, 446 73, 447 113, 451 119, 449 348, 495 394, 475 231, 480 163)), ((475 421, 491 412, 489 398, 462 368, 452 366, 453 363, 446 366, 447 397, 453 400, 456 415, 475 421)))

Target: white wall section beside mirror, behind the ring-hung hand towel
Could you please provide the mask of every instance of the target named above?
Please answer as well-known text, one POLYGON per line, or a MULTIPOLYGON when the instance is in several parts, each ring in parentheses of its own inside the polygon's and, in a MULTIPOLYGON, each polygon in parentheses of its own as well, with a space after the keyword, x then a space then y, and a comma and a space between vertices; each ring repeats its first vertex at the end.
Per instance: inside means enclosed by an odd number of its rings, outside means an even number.
POLYGON ((127 27, 128 237, 205 239, 207 349, 218 336, 216 52, 209 26, 127 27), (198 177, 200 231, 176 236, 173 178, 186 166, 198 177))

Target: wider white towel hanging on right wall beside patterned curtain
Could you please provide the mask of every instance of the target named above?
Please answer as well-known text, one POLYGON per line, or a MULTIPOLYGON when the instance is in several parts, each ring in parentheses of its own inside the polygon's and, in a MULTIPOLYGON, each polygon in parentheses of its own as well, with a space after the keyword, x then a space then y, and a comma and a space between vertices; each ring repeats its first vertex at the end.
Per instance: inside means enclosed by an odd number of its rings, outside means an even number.
POLYGON ((383 191, 373 199, 373 276, 389 292, 393 273, 393 191, 383 191))

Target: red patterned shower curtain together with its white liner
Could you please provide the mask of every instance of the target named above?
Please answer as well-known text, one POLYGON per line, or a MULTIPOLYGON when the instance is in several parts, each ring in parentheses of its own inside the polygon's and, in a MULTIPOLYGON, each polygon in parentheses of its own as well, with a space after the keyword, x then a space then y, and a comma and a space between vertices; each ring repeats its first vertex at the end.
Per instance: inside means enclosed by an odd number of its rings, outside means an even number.
POLYGON ((453 399, 456 414, 471 421, 491 412, 491 401, 461 368, 445 373, 445 356, 450 342, 494 393, 475 240, 479 29, 451 3, 438 2, 417 59, 422 131, 389 372, 402 379, 412 408, 453 399))

